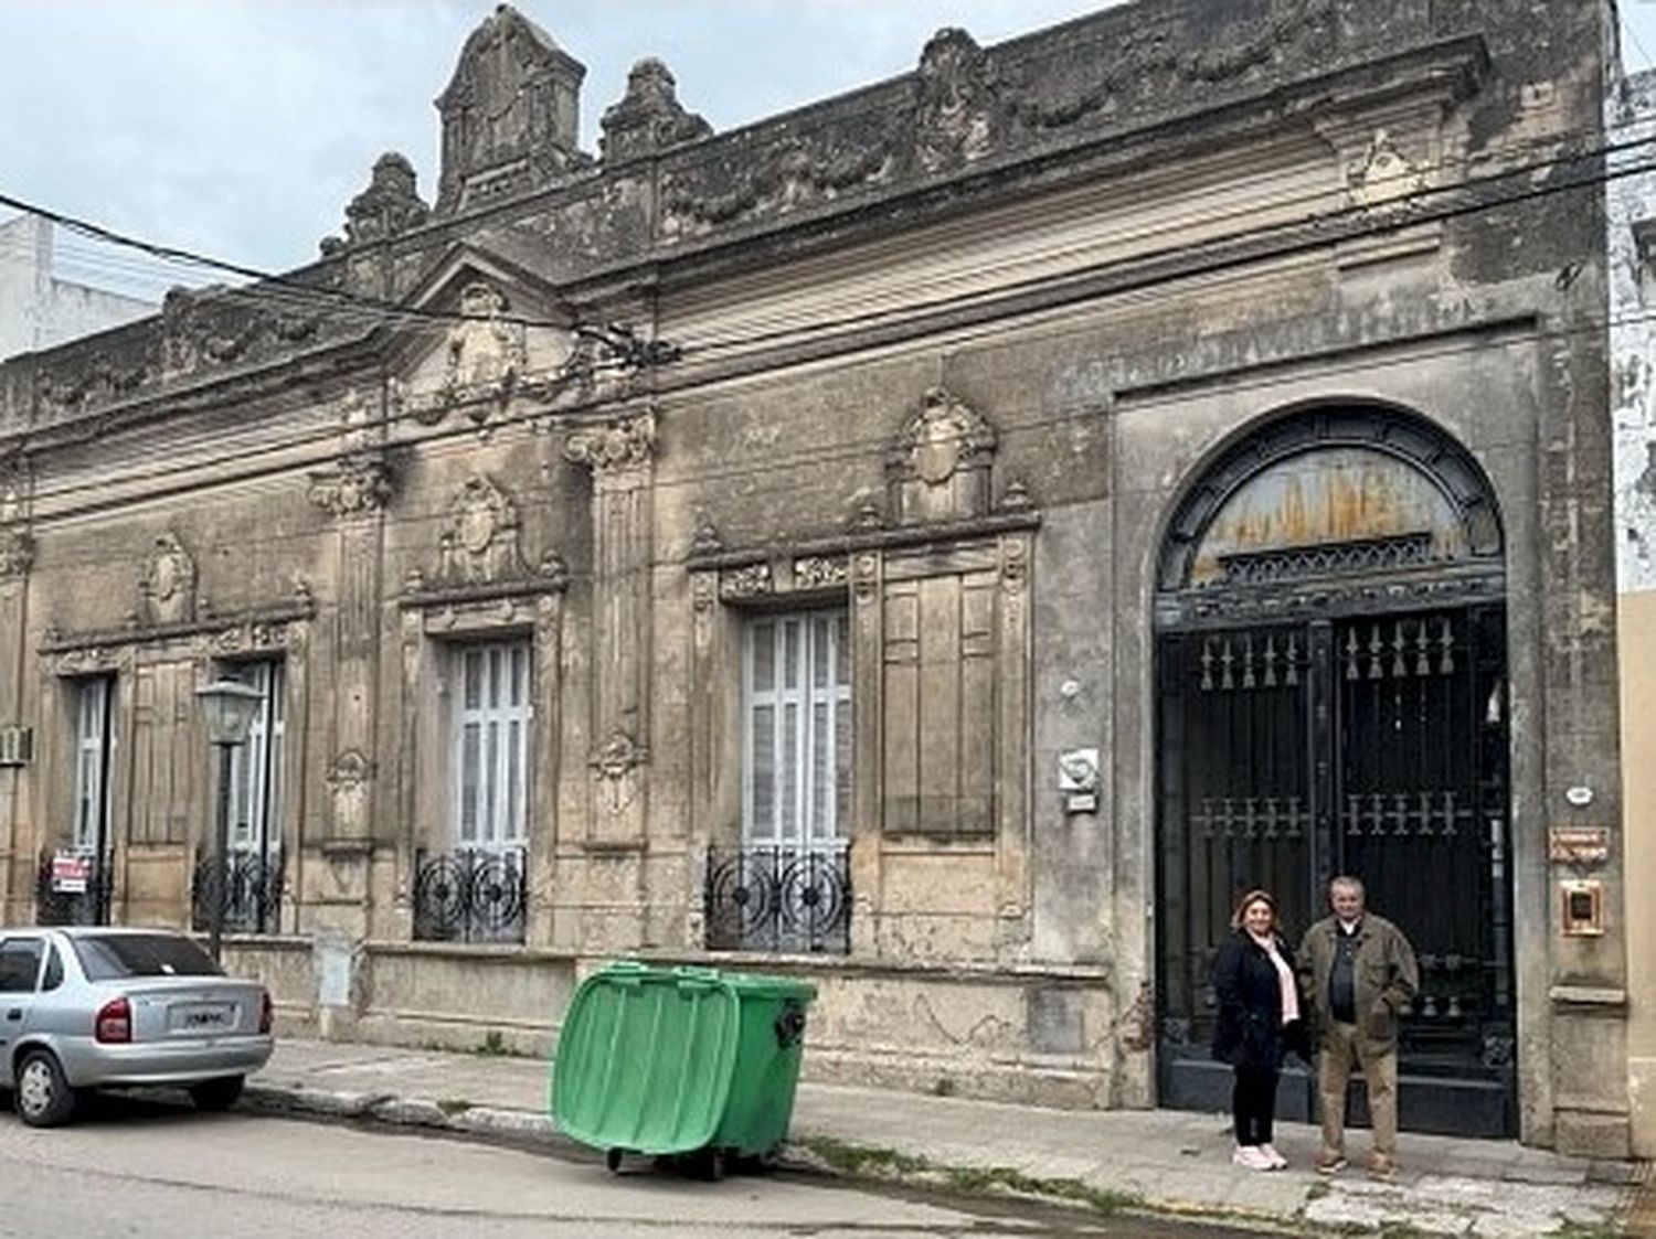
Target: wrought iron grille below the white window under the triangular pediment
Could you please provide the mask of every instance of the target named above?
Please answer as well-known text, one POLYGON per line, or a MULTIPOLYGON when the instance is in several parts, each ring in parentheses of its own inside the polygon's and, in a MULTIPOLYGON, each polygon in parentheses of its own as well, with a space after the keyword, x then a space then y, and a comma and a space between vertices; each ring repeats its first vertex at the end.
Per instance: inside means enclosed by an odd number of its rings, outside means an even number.
POLYGON ((414 940, 520 943, 528 908, 522 847, 414 854, 414 940))

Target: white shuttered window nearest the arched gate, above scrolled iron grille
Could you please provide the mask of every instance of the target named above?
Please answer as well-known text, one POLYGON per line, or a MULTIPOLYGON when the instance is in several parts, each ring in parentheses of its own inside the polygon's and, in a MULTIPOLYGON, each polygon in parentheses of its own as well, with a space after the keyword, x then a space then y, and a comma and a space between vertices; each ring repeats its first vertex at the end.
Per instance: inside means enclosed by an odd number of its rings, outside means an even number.
POLYGON ((841 845, 851 819, 851 647, 843 610, 747 622, 742 720, 744 842, 841 845))

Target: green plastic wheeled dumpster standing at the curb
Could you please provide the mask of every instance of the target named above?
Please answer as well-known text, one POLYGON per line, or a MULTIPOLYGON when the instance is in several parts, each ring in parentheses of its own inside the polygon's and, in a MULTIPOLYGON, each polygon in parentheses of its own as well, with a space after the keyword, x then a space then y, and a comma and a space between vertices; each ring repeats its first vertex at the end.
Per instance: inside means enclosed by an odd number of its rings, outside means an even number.
POLYGON ((816 988, 714 968, 614 963, 575 991, 551 1067, 558 1130, 601 1148, 689 1158, 768 1158, 793 1115, 805 1009, 816 988))

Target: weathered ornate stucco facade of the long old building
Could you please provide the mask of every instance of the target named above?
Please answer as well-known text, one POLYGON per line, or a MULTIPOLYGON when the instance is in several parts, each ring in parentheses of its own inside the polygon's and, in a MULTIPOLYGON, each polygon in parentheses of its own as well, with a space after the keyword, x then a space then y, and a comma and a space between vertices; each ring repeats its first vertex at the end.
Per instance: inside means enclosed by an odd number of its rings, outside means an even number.
POLYGON ((717 136, 644 61, 593 157, 500 8, 431 207, 0 369, 5 915, 190 918, 229 672, 290 1022, 542 1047, 628 953, 1202 1105, 1232 893, 1355 868, 1404 1122, 1626 1155, 1610 31, 1141 0, 717 136))

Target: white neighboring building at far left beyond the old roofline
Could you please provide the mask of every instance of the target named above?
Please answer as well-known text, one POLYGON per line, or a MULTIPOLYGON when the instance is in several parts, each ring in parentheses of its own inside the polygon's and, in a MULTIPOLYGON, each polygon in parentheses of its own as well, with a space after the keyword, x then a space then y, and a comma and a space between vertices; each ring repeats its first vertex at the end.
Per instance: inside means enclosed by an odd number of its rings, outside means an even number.
POLYGON ((53 276, 51 232, 51 223, 33 215, 0 223, 0 357, 156 313, 149 301, 53 276))

